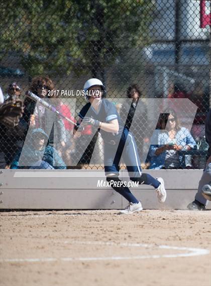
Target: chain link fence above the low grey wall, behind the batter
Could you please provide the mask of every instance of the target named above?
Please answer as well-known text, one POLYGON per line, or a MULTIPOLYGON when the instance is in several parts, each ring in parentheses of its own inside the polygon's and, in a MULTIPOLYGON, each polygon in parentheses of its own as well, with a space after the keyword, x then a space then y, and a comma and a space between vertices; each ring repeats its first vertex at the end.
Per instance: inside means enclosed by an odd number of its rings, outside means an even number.
POLYGON ((133 132, 143 168, 205 166, 209 1, 12 0, 1 8, 0 85, 5 101, 23 98, 25 112, 17 127, 0 125, 0 168, 36 168, 42 160, 42 168, 102 169, 100 134, 86 126, 81 137, 73 137, 77 114, 87 103, 81 91, 92 77, 102 80, 108 100, 133 132), (27 90, 73 123, 36 105, 25 96, 27 90), (168 99, 188 99, 189 111, 185 104, 178 116, 178 103, 168 99), (155 132, 147 135, 147 129, 155 132), (153 141, 157 130, 166 130, 165 142, 153 141), (171 148, 181 144, 182 149, 171 148), (158 163, 156 150, 164 145, 170 147, 158 163), (20 164, 21 154, 28 163, 20 164))

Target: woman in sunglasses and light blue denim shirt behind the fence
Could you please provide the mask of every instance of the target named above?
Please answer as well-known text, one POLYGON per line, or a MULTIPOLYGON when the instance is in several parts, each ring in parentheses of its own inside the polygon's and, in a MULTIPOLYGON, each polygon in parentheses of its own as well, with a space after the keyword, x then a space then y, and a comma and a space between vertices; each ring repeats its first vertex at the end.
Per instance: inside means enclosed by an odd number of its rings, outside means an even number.
POLYGON ((153 137, 153 141, 157 137, 158 145, 150 146, 150 169, 184 168, 182 156, 177 151, 190 150, 196 146, 190 132, 179 125, 176 113, 173 110, 168 113, 162 115, 159 125, 159 129, 165 131, 153 137))

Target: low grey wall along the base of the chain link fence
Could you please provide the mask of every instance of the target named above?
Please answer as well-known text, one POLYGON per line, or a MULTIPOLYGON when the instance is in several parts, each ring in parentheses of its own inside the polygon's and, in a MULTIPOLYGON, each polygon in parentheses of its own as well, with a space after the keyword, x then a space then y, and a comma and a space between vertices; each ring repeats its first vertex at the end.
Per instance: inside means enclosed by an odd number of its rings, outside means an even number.
MULTIPOLYGON (((131 188, 144 209, 185 209, 194 199, 202 170, 145 170, 162 177, 167 190, 159 204, 151 186, 131 188)), ((120 178, 128 180, 127 171, 120 178)), ((0 170, 0 209, 123 209, 128 202, 112 188, 97 186, 103 170, 0 170)), ((207 209, 211 209, 209 203, 207 209)))

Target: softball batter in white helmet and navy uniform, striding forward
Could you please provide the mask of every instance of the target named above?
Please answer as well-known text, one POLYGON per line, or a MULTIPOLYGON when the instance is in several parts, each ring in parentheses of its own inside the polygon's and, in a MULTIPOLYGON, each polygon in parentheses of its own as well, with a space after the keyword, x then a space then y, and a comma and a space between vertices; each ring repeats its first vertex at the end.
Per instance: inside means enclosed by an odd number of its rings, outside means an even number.
POLYGON ((131 214, 143 210, 141 202, 134 197, 127 186, 121 183, 122 181, 118 177, 121 156, 125 163, 127 162, 130 179, 138 181, 139 184, 152 185, 156 189, 158 201, 164 203, 166 190, 163 179, 155 179, 149 174, 142 174, 134 136, 123 127, 115 105, 105 99, 106 90, 102 82, 97 78, 91 78, 85 82, 83 89, 88 103, 78 114, 80 119, 74 130, 80 132, 83 126, 92 125, 100 132, 104 141, 104 170, 107 181, 115 182, 111 186, 129 201, 129 206, 120 213, 131 214), (114 145, 118 145, 115 154, 114 145))

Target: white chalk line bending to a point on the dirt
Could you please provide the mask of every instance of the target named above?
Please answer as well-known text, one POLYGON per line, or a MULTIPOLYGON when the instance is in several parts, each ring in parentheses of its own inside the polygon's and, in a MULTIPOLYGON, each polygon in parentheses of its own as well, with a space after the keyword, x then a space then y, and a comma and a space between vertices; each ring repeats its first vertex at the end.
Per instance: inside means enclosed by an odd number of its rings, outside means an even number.
POLYGON ((3 258, 0 262, 52 262, 52 261, 99 261, 99 260, 133 260, 146 258, 177 258, 197 255, 209 254, 208 249, 192 248, 192 247, 178 247, 169 245, 143 244, 143 243, 115 243, 115 242, 101 242, 101 241, 64 241, 65 244, 84 244, 84 245, 109 245, 109 246, 125 246, 125 247, 145 247, 145 248, 160 248, 160 249, 174 249, 185 250, 188 253, 178 254, 161 254, 161 255, 136 255, 136 256, 111 256, 111 257, 44 257, 44 258, 3 258))

